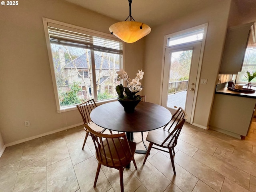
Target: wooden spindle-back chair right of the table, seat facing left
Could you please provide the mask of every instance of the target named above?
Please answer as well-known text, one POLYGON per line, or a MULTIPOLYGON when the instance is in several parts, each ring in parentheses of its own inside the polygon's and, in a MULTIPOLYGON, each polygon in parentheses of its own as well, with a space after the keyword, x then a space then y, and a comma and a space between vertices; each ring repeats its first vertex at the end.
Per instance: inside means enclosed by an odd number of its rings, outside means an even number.
POLYGON ((146 153, 143 165, 145 164, 151 148, 161 150, 170 154, 172 169, 174 175, 176 175, 173 156, 175 155, 174 147, 177 145, 178 136, 187 119, 186 112, 179 107, 178 110, 173 114, 171 121, 164 126, 163 129, 156 129, 148 132, 146 141, 149 142, 148 151, 146 153), (169 127, 170 126, 170 127, 169 127), (168 130, 167 130, 168 129, 168 130), (154 146, 153 146, 154 145, 154 146), (164 150, 162 148, 168 149, 164 150))

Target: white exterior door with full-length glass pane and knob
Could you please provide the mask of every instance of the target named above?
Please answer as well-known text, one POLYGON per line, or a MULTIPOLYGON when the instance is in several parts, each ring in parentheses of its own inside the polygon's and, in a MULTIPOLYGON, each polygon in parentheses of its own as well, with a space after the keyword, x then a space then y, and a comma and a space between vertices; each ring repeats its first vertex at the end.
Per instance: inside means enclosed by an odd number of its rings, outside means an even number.
POLYGON ((182 107, 190 123, 195 104, 195 90, 201 42, 172 46, 165 49, 162 106, 173 114, 182 107))

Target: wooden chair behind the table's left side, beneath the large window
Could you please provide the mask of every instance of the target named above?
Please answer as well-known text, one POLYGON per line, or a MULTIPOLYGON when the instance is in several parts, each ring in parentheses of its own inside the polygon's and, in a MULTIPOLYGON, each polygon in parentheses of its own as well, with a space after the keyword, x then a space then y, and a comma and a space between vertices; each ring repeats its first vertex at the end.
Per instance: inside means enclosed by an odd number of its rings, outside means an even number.
MULTIPOLYGON (((94 124, 90 118, 90 113, 91 111, 97 107, 94 99, 88 100, 84 103, 81 103, 79 105, 76 106, 78 108, 78 111, 80 112, 82 119, 84 121, 84 124, 89 124, 94 130, 98 130, 98 132, 103 133, 106 129, 105 128, 101 128, 100 126, 97 126, 96 124, 94 124)), ((86 131, 86 127, 84 127, 84 130, 86 131)), ((112 132, 110 131, 110 133, 112 134, 112 132)), ((86 132, 85 138, 84 138, 84 144, 82 147, 82 150, 84 150, 84 145, 86 143, 86 140, 88 138, 89 132, 86 132)))

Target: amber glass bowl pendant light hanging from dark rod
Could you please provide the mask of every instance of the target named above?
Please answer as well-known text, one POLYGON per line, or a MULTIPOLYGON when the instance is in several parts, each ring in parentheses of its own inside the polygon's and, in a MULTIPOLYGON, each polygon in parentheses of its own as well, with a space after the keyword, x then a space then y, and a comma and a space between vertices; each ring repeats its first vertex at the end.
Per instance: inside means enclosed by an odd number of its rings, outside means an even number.
POLYGON ((128 2, 130 7, 130 15, 126 18, 126 20, 112 24, 109 31, 111 34, 124 42, 133 43, 149 34, 151 28, 144 23, 136 22, 134 18, 132 18, 132 0, 128 0, 128 2), (130 20, 127 20, 128 18, 130 20))

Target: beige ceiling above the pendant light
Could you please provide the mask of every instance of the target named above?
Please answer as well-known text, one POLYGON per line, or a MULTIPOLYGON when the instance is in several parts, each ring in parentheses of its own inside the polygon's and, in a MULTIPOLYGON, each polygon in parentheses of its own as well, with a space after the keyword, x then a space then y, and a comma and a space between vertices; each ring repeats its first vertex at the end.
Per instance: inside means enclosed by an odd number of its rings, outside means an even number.
MULTIPOLYGON (((129 16, 128 0, 66 0, 119 21, 129 16)), ((133 0, 135 21, 156 26, 223 0, 133 0)), ((244 1, 244 0, 242 0, 244 1)))

